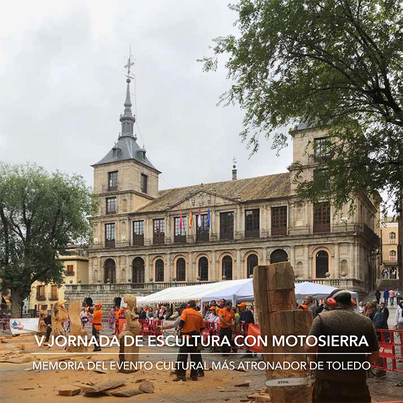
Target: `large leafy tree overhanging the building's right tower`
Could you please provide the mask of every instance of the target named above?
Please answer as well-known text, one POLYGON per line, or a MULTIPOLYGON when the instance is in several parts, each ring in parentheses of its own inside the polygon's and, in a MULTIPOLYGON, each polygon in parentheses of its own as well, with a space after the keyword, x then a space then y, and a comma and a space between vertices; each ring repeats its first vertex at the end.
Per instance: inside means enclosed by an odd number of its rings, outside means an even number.
MULTIPOLYGON (((403 181, 402 3, 240 0, 230 8, 237 13, 238 34, 214 39, 213 55, 200 61, 212 71, 220 55, 228 57, 232 84, 220 102, 244 109, 240 134, 251 153, 261 137, 270 138, 274 149, 284 147, 284 127, 328 127, 321 164, 334 205, 340 208, 359 191, 385 191, 397 212, 403 181)), ((311 201, 329 195, 314 181, 298 182, 298 192, 311 201)))

